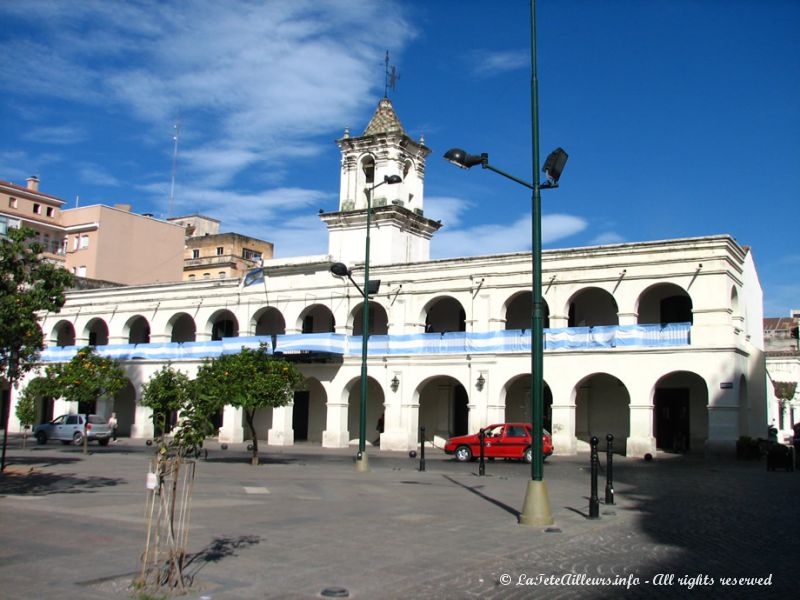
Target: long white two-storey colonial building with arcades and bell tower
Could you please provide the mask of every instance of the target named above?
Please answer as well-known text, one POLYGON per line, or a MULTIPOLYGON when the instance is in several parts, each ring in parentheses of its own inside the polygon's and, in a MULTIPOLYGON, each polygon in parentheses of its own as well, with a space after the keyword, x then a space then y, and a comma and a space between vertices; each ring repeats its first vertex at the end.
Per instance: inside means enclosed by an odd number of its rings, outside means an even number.
MULTIPOLYGON (((92 343, 130 380, 97 411, 147 438, 141 387, 167 361, 193 375, 202 361, 266 342, 306 376, 294 404, 259 415, 259 437, 344 447, 358 437, 367 196, 374 192, 367 439, 417 447, 419 428, 441 443, 479 427, 530 419, 531 255, 430 260, 440 224, 424 214, 430 150, 404 132, 384 98, 360 137, 346 132, 339 210, 321 214, 329 254, 274 259, 243 286, 208 280, 81 290, 46 315, 43 361, 92 343), (383 184, 399 175, 402 183, 383 184), (384 416, 384 431, 377 422, 384 416)), ((727 235, 547 250, 545 425, 556 453, 592 435, 641 456, 657 449, 730 452, 763 435, 766 371, 762 293, 750 252, 727 235)), ((31 375, 33 377, 35 375, 31 375)), ((70 408, 42 406, 42 418, 70 408)), ((220 441, 243 441, 226 408, 220 441)), ((19 428, 14 423, 12 430, 19 428)))

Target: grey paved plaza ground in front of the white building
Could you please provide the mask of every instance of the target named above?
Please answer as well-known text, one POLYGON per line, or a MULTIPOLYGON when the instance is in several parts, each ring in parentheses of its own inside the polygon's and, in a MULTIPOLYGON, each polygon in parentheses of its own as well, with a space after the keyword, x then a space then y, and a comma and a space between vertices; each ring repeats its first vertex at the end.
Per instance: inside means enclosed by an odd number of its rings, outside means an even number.
MULTIPOLYGON (((797 595, 800 472, 768 472, 763 461, 616 457, 616 503, 602 503, 601 475, 601 518, 590 520, 588 456, 553 456, 555 523, 530 528, 517 524, 530 467, 516 462, 488 462, 480 477, 477 463, 439 450, 428 450, 424 472, 405 454, 372 450, 364 474, 349 449, 262 445, 253 467, 243 445, 208 448, 192 491, 189 599, 797 595)), ((87 456, 12 437, 0 475, 0 598, 140 597, 130 585, 152 455, 134 440, 87 456)))

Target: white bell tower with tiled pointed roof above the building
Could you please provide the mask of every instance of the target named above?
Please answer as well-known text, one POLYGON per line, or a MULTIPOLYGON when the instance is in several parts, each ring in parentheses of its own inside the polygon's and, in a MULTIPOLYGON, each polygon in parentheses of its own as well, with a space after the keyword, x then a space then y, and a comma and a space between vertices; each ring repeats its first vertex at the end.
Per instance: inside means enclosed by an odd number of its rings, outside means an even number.
POLYGON ((342 153, 339 210, 322 213, 333 260, 364 262, 367 206, 372 197, 370 263, 395 264, 430 259, 430 240, 441 224, 424 216, 424 140, 406 134, 391 100, 381 98, 364 133, 336 140, 342 153), (399 176, 398 184, 384 183, 399 176))

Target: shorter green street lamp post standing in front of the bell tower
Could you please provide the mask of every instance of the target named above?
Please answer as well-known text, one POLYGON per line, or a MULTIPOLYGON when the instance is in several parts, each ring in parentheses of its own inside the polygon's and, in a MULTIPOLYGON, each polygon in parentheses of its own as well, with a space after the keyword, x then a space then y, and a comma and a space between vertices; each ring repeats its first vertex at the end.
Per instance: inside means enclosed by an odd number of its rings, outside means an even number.
MULTIPOLYGON (((369 294, 378 291, 375 282, 369 280, 369 242, 370 242, 370 226, 372 223, 372 196, 375 188, 382 186, 384 183, 390 185, 402 182, 399 175, 385 175, 383 181, 374 183, 369 188, 367 195, 367 239, 366 248, 364 251, 364 287, 360 287, 352 278, 350 269, 342 263, 334 263, 331 265, 331 273, 338 276, 347 276, 353 282, 356 289, 361 292, 364 298, 362 308, 362 325, 361 325, 361 395, 358 405, 358 454, 356 454, 356 471, 369 471, 369 462, 367 460, 367 343, 369 341, 369 294), (373 284, 373 285, 371 285, 373 284)), ((380 285, 380 282, 377 282, 380 285)))

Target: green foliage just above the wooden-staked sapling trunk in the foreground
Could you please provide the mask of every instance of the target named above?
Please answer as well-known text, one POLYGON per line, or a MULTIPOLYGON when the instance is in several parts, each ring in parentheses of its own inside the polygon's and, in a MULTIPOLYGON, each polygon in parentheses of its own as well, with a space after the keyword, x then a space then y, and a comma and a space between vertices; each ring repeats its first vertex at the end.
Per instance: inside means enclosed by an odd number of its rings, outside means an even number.
POLYGON ((176 371, 171 364, 162 367, 142 386, 142 405, 153 411, 153 425, 160 446, 164 442, 167 424, 174 413, 180 415, 172 445, 180 451, 197 450, 213 432, 211 415, 215 403, 196 393, 197 386, 189 376, 176 371))

